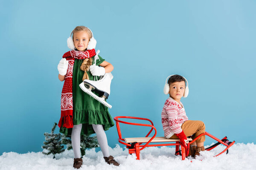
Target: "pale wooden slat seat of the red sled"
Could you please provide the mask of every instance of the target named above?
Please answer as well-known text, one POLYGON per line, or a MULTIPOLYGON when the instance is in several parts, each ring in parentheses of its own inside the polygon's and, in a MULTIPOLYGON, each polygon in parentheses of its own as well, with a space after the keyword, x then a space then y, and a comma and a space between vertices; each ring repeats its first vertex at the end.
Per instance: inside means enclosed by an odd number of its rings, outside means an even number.
MULTIPOLYGON (((126 143, 146 143, 151 139, 151 137, 139 137, 139 138, 125 138, 126 143)), ((192 138, 188 137, 189 141, 192 141, 192 138)), ((180 142, 179 139, 166 139, 165 137, 154 137, 151 142, 180 142)))

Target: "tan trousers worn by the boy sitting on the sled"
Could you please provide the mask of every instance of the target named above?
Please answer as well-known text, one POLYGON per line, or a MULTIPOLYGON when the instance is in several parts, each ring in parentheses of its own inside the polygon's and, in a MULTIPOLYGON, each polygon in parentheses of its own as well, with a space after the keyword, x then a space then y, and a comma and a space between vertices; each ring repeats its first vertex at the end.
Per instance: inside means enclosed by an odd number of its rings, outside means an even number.
MULTIPOLYGON (((204 122, 200 120, 187 120, 181 125, 181 129, 184 131, 186 136, 192 136, 193 140, 201 133, 205 133, 204 122)), ((174 134, 169 139, 178 139, 178 137, 174 134)), ((204 141, 205 141, 205 135, 198 138, 195 142, 199 143, 204 141)))

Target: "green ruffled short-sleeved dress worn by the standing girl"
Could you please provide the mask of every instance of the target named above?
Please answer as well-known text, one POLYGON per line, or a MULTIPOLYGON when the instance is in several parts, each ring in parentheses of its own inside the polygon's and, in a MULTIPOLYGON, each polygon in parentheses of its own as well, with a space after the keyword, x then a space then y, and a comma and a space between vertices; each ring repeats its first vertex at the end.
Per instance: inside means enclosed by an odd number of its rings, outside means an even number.
MULTIPOLYGON (((92 61, 94 61, 94 57, 92 57, 92 61)), ((96 65, 100 65, 103 61, 105 61, 105 59, 102 59, 102 57, 99 56, 96 65)), ((103 129, 108 130, 114 125, 114 122, 108 112, 108 107, 102 105, 89 94, 86 94, 79 87, 84 75, 84 71, 81 71, 80 69, 82 62, 82 59, 75 59, 73 68, 73 123, 74 125, 82 123, 81 135, 90 135, 95 133, 92 124, 103 125, 103 129)), ((93 80, 94 76, 90 71, 87 71, 87 74, 89 79, 93 80)), ((96 92, 93 93, 96 94, 96 92)), ((62 125, 60 132, 66 135, 71 135, 72 128, 65 128, 62 125)))

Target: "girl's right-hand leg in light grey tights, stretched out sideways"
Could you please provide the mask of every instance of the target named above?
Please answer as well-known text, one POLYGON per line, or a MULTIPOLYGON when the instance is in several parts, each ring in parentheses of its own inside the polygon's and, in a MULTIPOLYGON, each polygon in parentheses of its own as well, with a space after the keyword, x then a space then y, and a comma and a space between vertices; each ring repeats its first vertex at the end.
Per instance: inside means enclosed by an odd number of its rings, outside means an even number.
POLYGON ((106 133, 102 127, 102 125, 93 125, 93 130, 96 133, 99 146, 102 150, 103 156, 104 157, 109 157, 109 152, 108 152, 108 140, 106 133))

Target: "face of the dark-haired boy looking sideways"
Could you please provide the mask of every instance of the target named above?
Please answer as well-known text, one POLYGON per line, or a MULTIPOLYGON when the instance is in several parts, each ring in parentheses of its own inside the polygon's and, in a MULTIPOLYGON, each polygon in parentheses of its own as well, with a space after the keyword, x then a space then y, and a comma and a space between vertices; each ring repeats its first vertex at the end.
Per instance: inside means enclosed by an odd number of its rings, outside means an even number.
POLYGON ((185 82, 173 82, 170 84, 170 97, 172 97, 172 99, 177 99, 178 101, 180 101, 181 97, 184 95, 185 92, 185 82))

